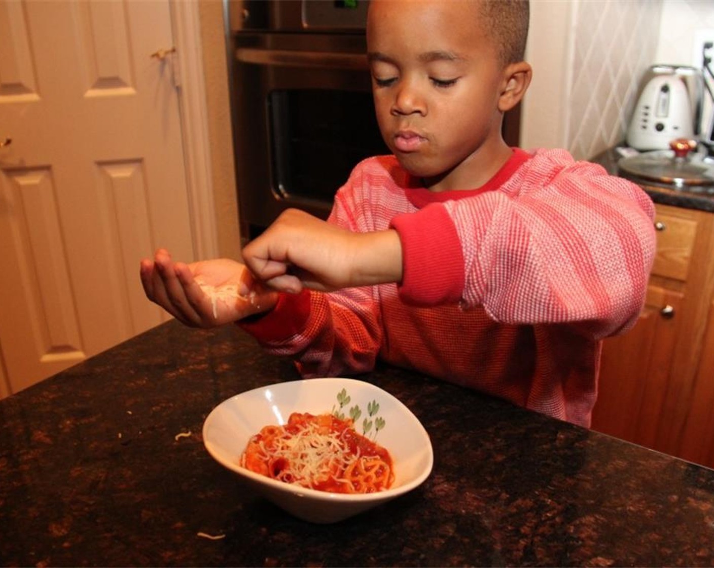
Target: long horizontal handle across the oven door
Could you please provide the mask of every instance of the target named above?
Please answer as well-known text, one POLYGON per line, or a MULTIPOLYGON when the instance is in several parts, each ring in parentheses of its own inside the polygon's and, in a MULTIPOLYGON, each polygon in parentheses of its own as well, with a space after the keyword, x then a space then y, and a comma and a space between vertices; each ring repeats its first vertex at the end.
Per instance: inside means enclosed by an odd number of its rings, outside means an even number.
POLYGON ((328 51, 289 51, 287 49, 255 49, 239 47, 236 59, 243 63, 313 69, 369 69, 366 54, 330 53, 328 51))

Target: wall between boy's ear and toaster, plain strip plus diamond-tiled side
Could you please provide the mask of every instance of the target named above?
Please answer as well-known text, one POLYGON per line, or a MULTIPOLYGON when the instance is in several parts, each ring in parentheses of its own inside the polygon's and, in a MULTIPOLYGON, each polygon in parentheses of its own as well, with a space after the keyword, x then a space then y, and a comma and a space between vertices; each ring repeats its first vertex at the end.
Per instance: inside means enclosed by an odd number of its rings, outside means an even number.
POLYGON ((588 159, 621 141, 655 61, 662 8, 661 0, 532 0, 522 145, 588 159))

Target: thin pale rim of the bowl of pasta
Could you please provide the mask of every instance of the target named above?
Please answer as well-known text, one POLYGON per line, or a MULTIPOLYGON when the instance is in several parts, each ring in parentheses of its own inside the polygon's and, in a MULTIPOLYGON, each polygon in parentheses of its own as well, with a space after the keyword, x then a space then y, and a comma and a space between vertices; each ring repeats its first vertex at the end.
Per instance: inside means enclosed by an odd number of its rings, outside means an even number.
POLYGON ((284 382, 278 382, 278 383, 273 383, 273 384, 266 384, 263 385, 262 387, 256 387, 254 389, 248 389, 247 391, 239 392, 237 394, 233 394, 232 397, 229 397, 226 400, 223 400, 222 402, 216 404, 216 407, 213 407, 211 412, 208 413, 208 416, 206 417, 206 420, 203 422, 203 429, 202 429, 202 437, 203 437, 203 445, 206 447, 206 450, 208 451, 209 454, 211 454, 211 457, 216 460, 219 464, 221 464, 223 467, 226 467, 226 469, 230 469, 232 472, 235 472, 238 475, 241 475, 242 477, 246 477, 247 479, 253 480, 253 482, 257 482, 258 484, 261 484, 265 487, 271 487, 273 489, 276 489, 280 492, 286 492, 286 493, 291 493, 293 495, 296 495, 297 497, 310 497, 311 499, 316 499, 318 501, 326 501, 326 502, 353 502, 353 503, 359 503, 359 502, 372 502, 372 501, 381 501, 384 499, 391 499, 392 497, 398 497, 399 495, 405 494, 407 492, 410 492, 412 489, 415 489, 419 485, 421 485, 427 477, 431 474, 431 470, 433 469, 433 463, 434 463, 434 452, 433 452, 433 447, 431 445, 431 437, 429 437, 428 432, 426 431, 426 428, 423 427, 423 424, 421 424, 420 420, 414 415, 413 412, 399 400, 397 397, 395 397, 393 394, 386 392, 386 390, 382 389, 381 387, 377 387, 376 384, 373 384, 371 382, 359 380, 359 379, 349 379, 346 377, 321 377, 321 378, 316 378, 316 379, 297 379, 294 381, 284 381, 284 382), (424 467, 423 471, 418 474, 417 477, 412 479, 411 481, 398 485, 397 487, 390 487, 389 489, 385 489, 384 491, 380 492, 374 492, 374 493, 358 493, 358 494, 353 494, 353 493, 332 493, 332 492, 326 492, 326 491, 319 491, 318 489, 311 489, 309 487, 301 487, 300 485, 293 485, 290 483, 286 482, 281 482, 276 479, 271 479, 270 477, 265 477, 264 475, 258 474, 256 472, 251 472, 250 469, 246 469, 245 467, 242 467, 240 464, 230 462, 226 459, 223 459, 221 455, 217 452, 215 448, 213 448, 213 443, 208 440, 206 437, 206 432, 208 430, 208 427, 210 426, 209 422, 211 420, 215 420, 215 413, 218 410, 219 407, 221 407, 223 404, 229 404, 233 399, 236 399, 238 397, 243 397, 245 395, 258 392, 258 391, 263 391, 265 389, 276 389, 278 387, 281 387, 281 385, 290 385, 290 386, 296 386, 296 384, 306 384, 308 382, 324 382, 324 381, 340 381, 340 382, 348 382, 352 384, 358 383, 361 387, 367 386, 368 388, 371 389, 376 389, 376 391, 379 392, 380 397, 386 397, 387 399, 390 399, 394 404, 397 405, 397 407, 401 407, 404 412, 406 412, 406 415, 408 419, 413 421, 413 424, 415 425, 416 429, 418 432, 423 434, 423 437, 426 439, 426 467, 424 467), (211 418, 213 417, 213 418, 211 418))

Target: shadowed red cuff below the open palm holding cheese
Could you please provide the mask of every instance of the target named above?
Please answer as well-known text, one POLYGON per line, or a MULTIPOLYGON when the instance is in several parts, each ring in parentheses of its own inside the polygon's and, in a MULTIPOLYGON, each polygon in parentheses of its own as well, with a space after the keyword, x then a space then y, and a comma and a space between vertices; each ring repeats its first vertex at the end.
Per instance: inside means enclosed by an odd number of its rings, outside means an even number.
POLYGON ((281 293, 270 312, 256 319, 243 319, 236 325, 261 343, 276 343, 290 339, 304 331, 310 317, 310 291, 300 294, 281 293))

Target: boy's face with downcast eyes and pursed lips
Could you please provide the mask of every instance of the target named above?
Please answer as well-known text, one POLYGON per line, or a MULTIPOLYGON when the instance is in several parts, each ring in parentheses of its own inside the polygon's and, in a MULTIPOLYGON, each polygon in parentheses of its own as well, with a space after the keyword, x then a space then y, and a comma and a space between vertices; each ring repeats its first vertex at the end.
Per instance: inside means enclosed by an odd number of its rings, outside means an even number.
POLYGON ((510 155, 506 74, 476 3, 372 0, 367 50, 379 128, 400 163, 435 191, 488 181, 510 155))

